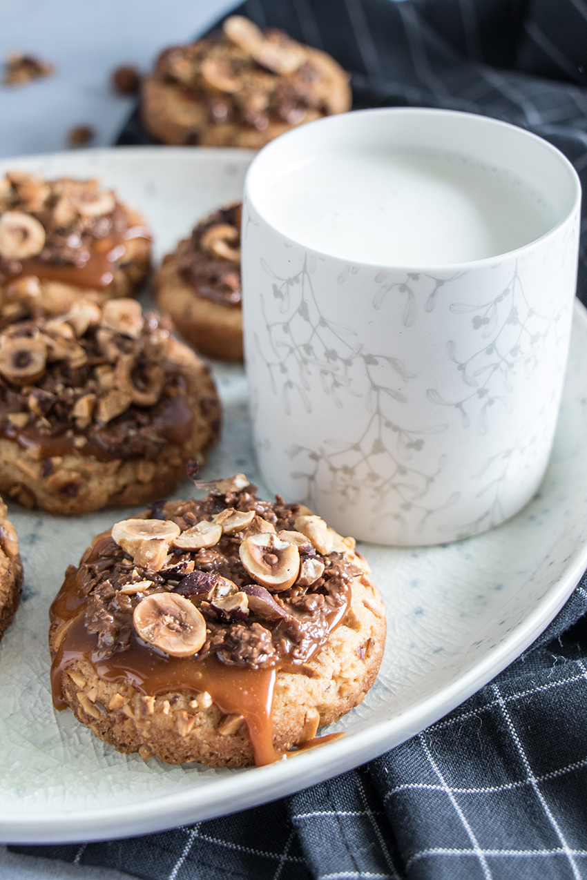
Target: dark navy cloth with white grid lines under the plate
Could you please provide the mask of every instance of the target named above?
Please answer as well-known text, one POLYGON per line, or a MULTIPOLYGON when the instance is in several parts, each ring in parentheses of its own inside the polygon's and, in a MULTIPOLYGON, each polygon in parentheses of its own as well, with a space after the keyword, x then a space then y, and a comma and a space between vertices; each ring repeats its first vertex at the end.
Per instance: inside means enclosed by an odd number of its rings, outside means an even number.
MULTIPOLYGON (((356 106, 515 122, 587 180, 587 0, 249 0, 238 11, 334 55, 356 106)), ((136 117, 120 143, 150 143, 136 117)), ((586 239, 583 219, 583 299, 586 239)), ((144 838, 12 848, 149 880, 587 878, 583 615, 587 576, 532 649, 451 715, 284 801, 144 838)))

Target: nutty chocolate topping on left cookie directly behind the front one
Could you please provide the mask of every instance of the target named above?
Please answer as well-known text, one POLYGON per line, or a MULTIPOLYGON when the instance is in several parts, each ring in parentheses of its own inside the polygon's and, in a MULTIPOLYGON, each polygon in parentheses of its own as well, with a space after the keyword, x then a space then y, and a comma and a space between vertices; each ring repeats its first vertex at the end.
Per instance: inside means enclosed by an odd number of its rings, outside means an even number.
MULTIPOLYGON (((12 324, 0 334, 0 436, 28 451, 32 467, 42 460, 43 475, 66 454, 158 458, 185 441, 193 420, 195 390, 174 347, 169 319, 143 317, 133 299, 102 309, 79 299, 58 318, 12 324)), ((199 404, 216 412, 211 395, 199 404)))

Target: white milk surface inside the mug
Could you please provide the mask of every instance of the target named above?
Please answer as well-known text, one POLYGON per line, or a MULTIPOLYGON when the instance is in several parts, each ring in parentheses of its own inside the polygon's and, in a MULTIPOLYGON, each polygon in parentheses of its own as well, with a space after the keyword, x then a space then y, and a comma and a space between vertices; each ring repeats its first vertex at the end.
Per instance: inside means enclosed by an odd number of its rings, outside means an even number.
POLYGON ((482 260, 552 226, 543 195, 456 153, 340 150, 285 168, 260 208, 294 241, 355 262, 420 268, 482 260))

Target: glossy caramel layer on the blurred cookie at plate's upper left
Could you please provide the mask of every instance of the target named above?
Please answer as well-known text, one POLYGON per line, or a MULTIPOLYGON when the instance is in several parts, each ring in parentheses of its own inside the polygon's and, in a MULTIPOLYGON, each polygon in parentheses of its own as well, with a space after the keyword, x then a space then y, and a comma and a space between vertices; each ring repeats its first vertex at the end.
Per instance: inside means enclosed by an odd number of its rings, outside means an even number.
MULTIPOLYGON (((34 275, 40 281, 55 281, 62 284, 73 284, 91 290, 105 288, 113 281, 116 265, 126 253, 125 241, 131 238, 150 238, 143 226, 133 226, 123 232, 114 232, 107 238, 97 238, 90 249, 90 259, 84 266, 73 266, 70 263, 59 265, 48 260, 30 257, 18 260, 22 267, 14 274, 5 275, 7 283, 20 275, 34 275)), ((4 275, 4 273, 3 273, 4 275)))

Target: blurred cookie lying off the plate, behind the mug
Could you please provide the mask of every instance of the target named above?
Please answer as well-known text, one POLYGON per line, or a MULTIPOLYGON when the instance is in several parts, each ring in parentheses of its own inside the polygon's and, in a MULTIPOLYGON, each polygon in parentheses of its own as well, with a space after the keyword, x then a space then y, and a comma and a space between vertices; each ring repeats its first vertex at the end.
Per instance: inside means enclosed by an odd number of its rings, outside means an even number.
POLYGON ((351 100, 349 77, 326 52, 231 16, 222 33, 165 49, 143 81, 141 118, 163 143, 258 150, 351 100))

